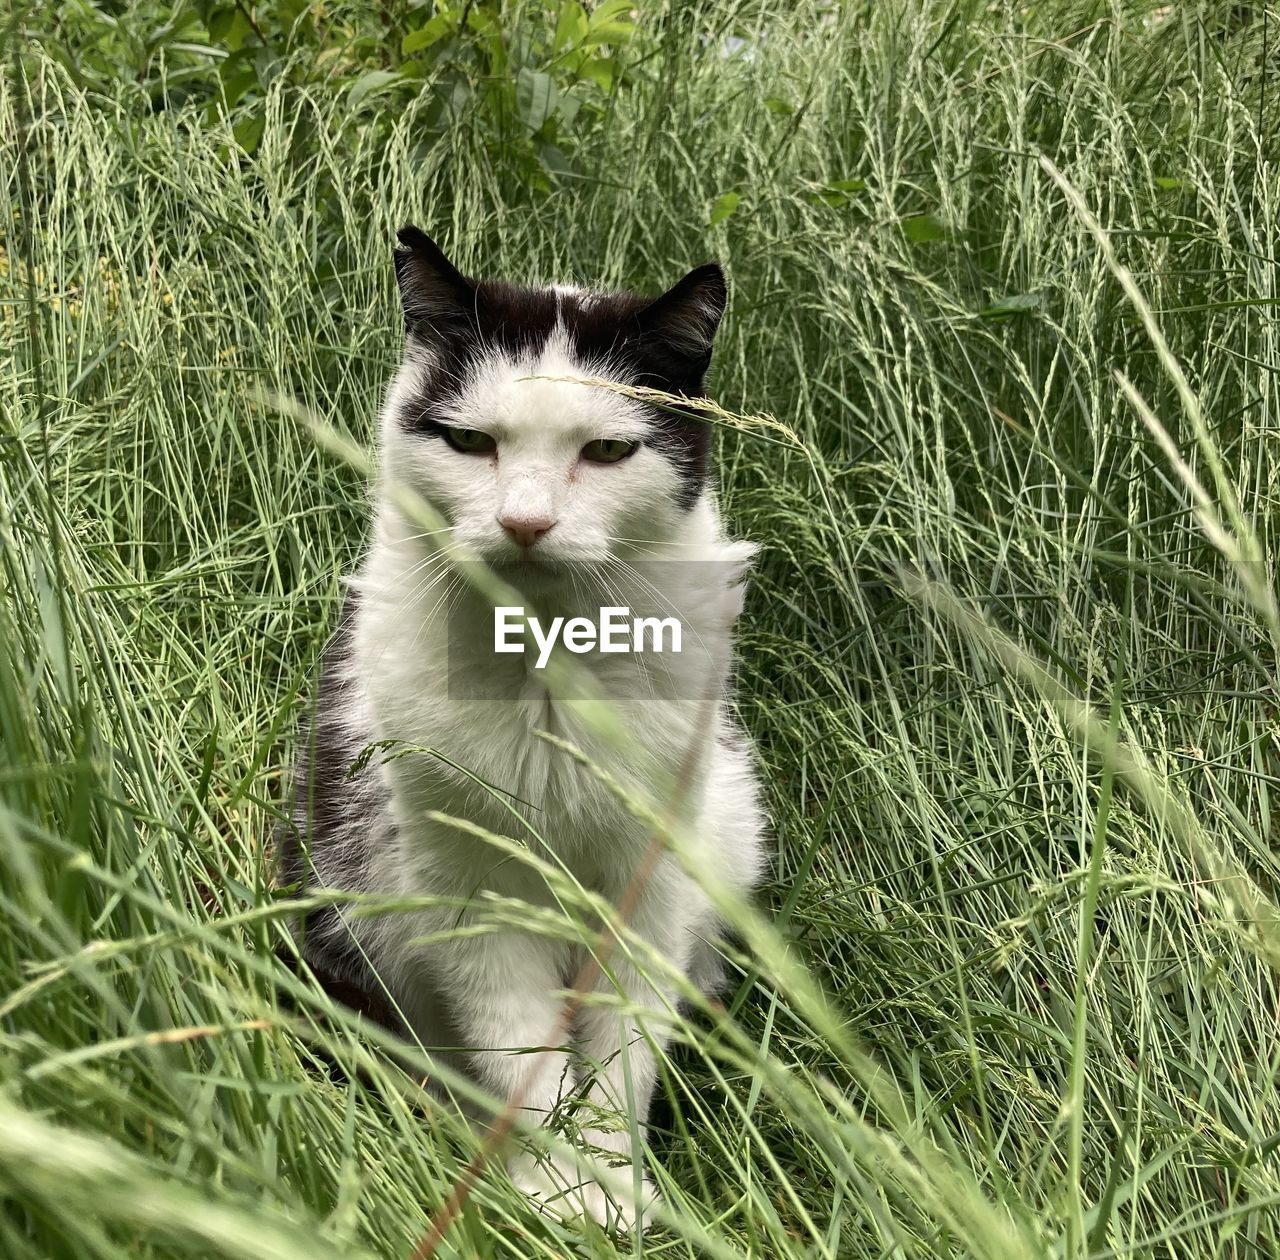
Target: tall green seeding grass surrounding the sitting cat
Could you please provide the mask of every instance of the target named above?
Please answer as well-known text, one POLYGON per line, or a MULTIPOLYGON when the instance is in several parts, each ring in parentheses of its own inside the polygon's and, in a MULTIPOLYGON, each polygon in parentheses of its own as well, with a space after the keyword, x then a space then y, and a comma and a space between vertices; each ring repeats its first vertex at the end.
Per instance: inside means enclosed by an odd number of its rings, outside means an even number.
POLYGON ((796 437, 718 435, 777 857, 664 1065, 668 1216, 490 1169, 436 1255, 1280 1254, 1280 13, 645 8, 550 193, 477 117, 283 79, 241 154, 42 20, 0 83, 0 1254, 408 1260, 476 1150, 270 983, 366 512, 305 417, 369 444, 406 220, 516 278, 722 259, 716 394, 796 437))

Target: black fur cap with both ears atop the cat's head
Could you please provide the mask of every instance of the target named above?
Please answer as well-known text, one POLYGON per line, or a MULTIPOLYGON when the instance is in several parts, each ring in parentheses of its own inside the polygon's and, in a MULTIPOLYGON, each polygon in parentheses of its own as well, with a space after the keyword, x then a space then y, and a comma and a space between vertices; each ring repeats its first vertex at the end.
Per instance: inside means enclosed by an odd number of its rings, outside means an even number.
MULTIPOLYGON (((424 397, 402 423, 439 435, 439 416, 461 392, 471 364, 486 352, 536 356, 563 323, 575 356, 621 384, 684 398, 703 393, 712 341, 724 310, 724 275, 708 262, 660 297, 635 293, 558 293, 462 275, 434 241, 402 228, 396 275, 410 338, 436 364, 424 397)), ((690 508, 707 484, 710 425, 696 407, 653 407, 652 446, 681 478, 678 503, 690 508)))

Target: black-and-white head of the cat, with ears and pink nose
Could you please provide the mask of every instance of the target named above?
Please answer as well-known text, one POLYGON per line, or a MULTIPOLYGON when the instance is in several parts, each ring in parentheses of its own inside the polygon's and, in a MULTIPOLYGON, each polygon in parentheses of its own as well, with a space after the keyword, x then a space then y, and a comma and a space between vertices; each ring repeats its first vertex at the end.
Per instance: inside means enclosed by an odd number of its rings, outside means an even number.
POLYGON ((662 297, 522 289, 461 275, 406 228, 406 356, 388 471, 489 561, 603 560, 675 535, 708 474, 709 425, 595 378, 696 398, 724 309, 714 264, 662 297))

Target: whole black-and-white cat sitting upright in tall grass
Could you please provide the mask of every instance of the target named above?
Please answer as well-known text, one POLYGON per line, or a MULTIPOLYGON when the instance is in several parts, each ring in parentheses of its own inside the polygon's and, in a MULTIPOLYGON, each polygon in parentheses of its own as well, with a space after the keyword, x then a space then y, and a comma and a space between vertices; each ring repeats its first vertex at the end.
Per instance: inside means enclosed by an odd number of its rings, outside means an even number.
POLYGON ((581 1141, 614 1172, 584 1179, 577 1161, 520 1151, 511 1175, 543 1210, 630 1228, 655 1197, 639 1164, 666 1037, 660 1018, 625 1006, 669 1015, 676 987, 617 946, 591 989, 621 989, 625 1004, 588 998, 568 1036, 548 1046, 584 950, 520 927, 458 931, 483 913, 460 912, 457 900, 557 901, 527 863, 428 811, 520 837, 614 905, 632 896, 631 930, 704 992, 719 986, 719 922, 698 881, 666 850, 644 877, 652 825, 535 731, 568 740, 650 799, 678 796, 689 860, 741 892, 756 885, 765 820, 753 750, 728 708, 754 547, 721 524, 710 425, 695 406, 563 379, 696 400, 724 277, 707 264, 657 298, 522 288, 465 277, 417 228, 398 239, 404 353, 381 408, 371 540, 326 649, 283 878, 456 899, 360 918, 314 912, 298 933, 302 955, 337 996, 433 1053, 452 1047, 476 1082, 517 1099, 532 1120, 558 1115, 572 1092, 589 1117, 581 1141), (676 613, 680 653, 575 657, 630 732, 627 764, 552 694, 534 653, 493 650, 492 602, 461 580, 442 537, 412 519, 393 483, 540 610, 676 613), (408 752, 370 755, 397 744, 408 752), (590 1120, 628 1104, 630 1123, 590 1120))

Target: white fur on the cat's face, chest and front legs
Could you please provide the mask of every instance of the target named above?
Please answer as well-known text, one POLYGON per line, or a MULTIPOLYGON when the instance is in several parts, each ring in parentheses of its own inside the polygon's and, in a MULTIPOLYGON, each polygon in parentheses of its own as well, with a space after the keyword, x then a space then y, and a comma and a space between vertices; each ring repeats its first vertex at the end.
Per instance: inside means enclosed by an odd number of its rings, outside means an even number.
MULTIPOLYGON (((613 903, 634 878, 649 831, 588 771, 532 732, 549 730, 577 743, 659 802, 691 758, 689 800, 699 860, 718 878, 750 889, 763 862, 764 823, 745 740, 726 712, 726 689, 751 547, 724 538, 709 492, 692 508, 678 507, 678 475, 652 447, 614 465, 579 458, 593 439, 644 439, 649 419, 641 405, 603 389, 522 379, 600 370, 575 362, 566 337, 553 335, 536 361, 490 357, 468 378, 448 419, 492 433, 498 439, 493 456, 460 453, 440 438, 403 428, 401 410, 425 384, 424 355, 416 347, 407 356, 384 407, 384 480, 407 483, 447 517, 457 539, 490 561, 521 554, 499 517, 553 520, 538 553, 596 562, 605 575, 602 581, 620 597, 561 589, 553 580, 543 593, 557 611, 593 599, 596 608, 625 603, 662 610, 660 616, 677 611, 686 627, 685 652, 577 658, 612 698, 634 740, 637 752, 620 766, 617 750, 550 697, 544 676, 531 668, 532 657, 504 658, 509 672, 493 671, 486 610, 470 602, 462 584, 444 598, 454 574, 438 554, 438 539, 422 537, 421 526, 381 493, 372 544, 355 580, 360 601, 347 680, 355 699, 342 716, 352 752, 370 732, 436 749, 536 805, 536 812, 525 812, 547 837, 549 857, 613 903), (630 569, 607 558, 626 561, 630 569), (465 645, 460 648, 458 627, 467 617, 477 627, 470 639, 474 661, 465 645), (485 671, 489 698, 460 694, 457 680, 472 668, 485 671)), ((366 830, 358 837, 362 845, 376 845, 367 867, 370 890, 472 900, 493 892, 554 910, 554 898, 526 866, 502 862, 483 840, 425 818, 434 809, 521 836, 509 811, 471 779, 425 754, 393 758, 371 772, 389 788, 390 804, 374 835, 366 830)), ((466 1065, 477 1079, 499 1097, 524 1091, 535 1118, 549 1117, 579 1082, 586 1082, 589 1104, 607 1109, 625 1109, 630 1091, 643 1133, 654 1053, 664 1042, 662 1022, 645 1024, 620 1015, 617 1004, 588 1001, 571 1045, 513 1053, 543 1046, 556 1035, 563 991, 582 965, 581 951, 534 932, 458 933, 470 918, 460 918, 456 909, 420 910, 353 918, 347 926, 425 1046, 468 1047, 466 1065)), ((707 942, 717 935, 716 916, 673 857, 658 862, 631 926, 695 982, 712 981, 716 955, 707 942)), ((611 969, 625 996, 641 1008, 673 1006, 668 986, 655 985, 621 950, 611 969)), ((596 989, 614 991, 608 980, 596 989)), ((605 1163, 628 1165, 640 1158, 626 1120, 609 1132, 588 1126, 584 1140, 605 1152, 605 1163)), ((517 1158, 512 1174, 532 1196, 568 1214, 588 1211, 603 1220, 609 1199, 621 1202, 614 1211, 623 1223, 636 1210, 620 1188, 631 1184, 626 1168, 611 1195, 596 1183, 564 1193, 564 1182, 577 1183, 579 1177, 561 1163, 535 1165, 530 1156, 517 1158)))

